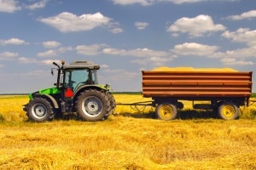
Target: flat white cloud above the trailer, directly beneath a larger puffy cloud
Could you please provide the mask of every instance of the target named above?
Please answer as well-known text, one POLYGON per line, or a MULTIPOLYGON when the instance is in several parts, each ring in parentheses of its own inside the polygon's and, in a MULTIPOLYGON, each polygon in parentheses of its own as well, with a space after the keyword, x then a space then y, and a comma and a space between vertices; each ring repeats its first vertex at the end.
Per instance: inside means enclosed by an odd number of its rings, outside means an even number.
POLYGON ((211 56, 218 50, 218 46, 208 46, 195 42, 185 42, 173 48, 178 55, 211 56))

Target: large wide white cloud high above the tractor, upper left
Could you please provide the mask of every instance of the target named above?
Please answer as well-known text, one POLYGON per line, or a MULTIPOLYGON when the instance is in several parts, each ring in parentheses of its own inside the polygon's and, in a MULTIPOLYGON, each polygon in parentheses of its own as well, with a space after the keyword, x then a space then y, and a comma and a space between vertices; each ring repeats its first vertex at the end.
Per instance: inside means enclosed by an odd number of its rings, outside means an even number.
POLYGON ((39 20, 61 32, 90 31, 99 26, 107 26, 111 21, 110 18, 101 13, 77 16, 68 12, 39 20))

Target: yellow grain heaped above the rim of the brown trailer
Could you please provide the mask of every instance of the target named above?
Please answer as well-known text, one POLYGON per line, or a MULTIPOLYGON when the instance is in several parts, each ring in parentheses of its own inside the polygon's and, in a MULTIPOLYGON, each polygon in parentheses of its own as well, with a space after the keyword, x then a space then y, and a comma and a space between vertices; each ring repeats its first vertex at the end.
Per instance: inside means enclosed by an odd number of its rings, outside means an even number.
POLYGON ((237 72, 231 68, 193 68, 193 67, 167 67, 160 66, 151 71, 219 71, 219 72, 237 72))

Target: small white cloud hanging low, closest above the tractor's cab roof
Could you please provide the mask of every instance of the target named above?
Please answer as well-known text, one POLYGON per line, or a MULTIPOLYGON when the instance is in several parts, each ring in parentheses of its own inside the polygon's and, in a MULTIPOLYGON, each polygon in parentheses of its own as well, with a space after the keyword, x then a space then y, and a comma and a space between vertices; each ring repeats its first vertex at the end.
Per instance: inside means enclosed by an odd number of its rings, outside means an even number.
POLYGON ((106 47, 105 44, 92 44, 92 45, 79 45, 75 49, 78 54, 84 55, 97 55, 102 53, 102 48, 106 47))

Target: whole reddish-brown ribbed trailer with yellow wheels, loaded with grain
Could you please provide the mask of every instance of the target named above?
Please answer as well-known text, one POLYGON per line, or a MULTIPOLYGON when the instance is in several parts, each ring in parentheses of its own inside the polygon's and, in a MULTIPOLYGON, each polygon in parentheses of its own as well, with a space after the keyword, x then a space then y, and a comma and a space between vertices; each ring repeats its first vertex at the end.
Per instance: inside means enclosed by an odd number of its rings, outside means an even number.
POLYGON ((160 67, 142 71, 143 97, 152 99, 155 114, 162 120, 175 119, 183 100, 192 101, 194 109, 212 110, 222 119, 237 119, 239 107, 248 106, 252 75, 252 71, 227 68, 160 67))

